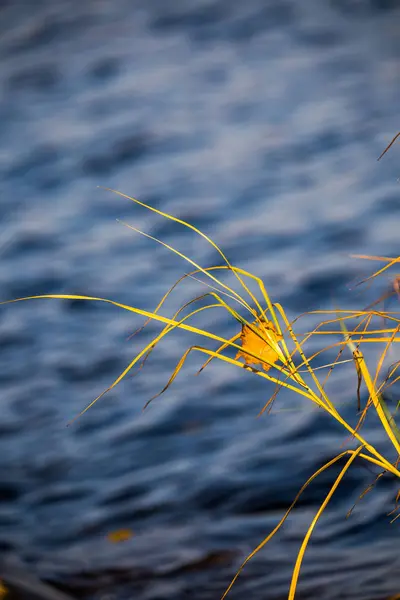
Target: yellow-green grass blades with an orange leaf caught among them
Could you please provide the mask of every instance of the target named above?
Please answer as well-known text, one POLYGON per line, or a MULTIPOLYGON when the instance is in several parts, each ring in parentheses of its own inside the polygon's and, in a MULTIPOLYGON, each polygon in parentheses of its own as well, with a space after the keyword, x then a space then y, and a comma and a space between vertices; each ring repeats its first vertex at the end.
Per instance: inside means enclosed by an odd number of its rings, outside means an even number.
MULTIPOLYGON (((114 190, 109 191, 115 192, 114 190)), ((273 531, 265 537, 257 548, 255 548, 243 561, 243 564, 237 571, 223 596, 225 598, 228 594, 246 563, 251 560, 252 557, 254 557, 254 555, 277 533, 305 488, 332 465, 338 463, 338 461, 340 461, 341 465, 344 462, 344 466, 342 466, 329 493, 312 519, 299 549, 288 595, 291 600, 295 596, 300 568, 313 529, 352 463, 354 463, 356 459, 357 461, 362 460, 367 463, 372 463, 380 470, 378 478, 384 473, 391 473, 395 477, 400 478, 400 470, 398 467, 398 462, 400 460, 400 432, 395 422, 395 414, 392 414, 389 411, 383 399, 383 391, 385 386, 389 385, 389 378, 384 378, 383 382, 381 381, 382 365, 388 350, 392 344, 400 341, 400 318, 396 316, 396 313, 380 311, 375 307, 359 311, 317 310, 306 314, 313 314, 316 315, 317 319, 324 318, 324 320, 312 331, 296 334, 295 326, 297 327, 302 315, 295 321, 290 322, 284 308, 279 303, 273 302, 270 299, 261 279, 244 269, 233 266, 222 250, 207 235, 199 231, 193 225, 148 206, 135 198, 125 196, 125 194, 121 194, 120 192, 115 193, 157 213, 163 218, 170 219, 189 228, 195 234, 206 240, 207 243, 211 244, 214 250, 219 254, 219 258, 222 258, 224 264, 213 267, 202 267, 168 244, 165 244, 160 240, 155 240, 155 238, 152 238, 152 236, 148 234, 139 232, 162 244, 191 265, 191 272, 183 275, 183 277, 172 286, 155 310, 146 311, 126 304, 121 304, 115 300, 73 294, 46 294, 29 298, 19 298, 8 302, 20 302, 23 300, 31 300, 32 298, 106 302, 119 309, 145 317, 147 320, 144 326, 149 321, 159 322, 162 325, 161 332, 133 358, 109 388, 93 400, 82 411, 81 415, 91 408, 106 392, 113 389, 135 366, 139 368, 143 366, 149 354, 158 346, 158 344, 162 343, 163 339, 169 333, 174 330, 182 330, 196 334, 200 340, 206 340, 213 343, 214 349, 203 345, 194 345, 188 348, 180 358, 166 386, 157 394, 157 396, 165 392, 172 384, 188 355, 192 352, 197 352, 205 357, 205 362, 200 371, 207 367, 211 361, 220 360, 227 363, 227 366, 229 365, 230 367, 233 366, 249 370, 254 376, 265 379, 267 389, 271 391, 271 396, 261 412, 268 409, 279 390, 285 388, 286 390, 290 390, 292 393, 307 399, 307 401, 316 405, 320 410, 325 411, 330 418, 334 419, 343 427, 349 434, 352 445, 355 445, 356 447, 354 449, 343 450, 335 458, 319 468, 305 482, 296 498, 293 500, 292 505, 288 508, 287 512, 273 531), (223 276, 226 274, 230 274, 231 277, 233 276, 235 287, 239 288, 239 292, 236 291, 233 286, 225 283, 226 277, 223 276), (200 277, 202 282, 208 286, 206 293, 186 303, 173 316, 162 316, 160 311, 163 308, 166 298, 187 277, 196 279, 200 277), (252 291, 252 288, 256 290, 256 293, 252 291), (200 307, 193 307, 195 301, 202 301, 200 307), (224 337, 216 335, 211 330, 200 329, 193 324, 193 318, 198 313, 201 311, 213 310, 215 308, 222 309, 229 313, 230 318, 236 323, 236 335, 230 339, 225 339, 224 337), (375 322, 381 323, 382 319, 384 326, 375 325, 375 322), (322 339, 328 338, 328 343, 322 344, 319 351, 314 352, 312 355, 307 355, 307 342, 311 338, 318 338, 319 340, 321 339, 321 336, 322 339), (367 361, 364 357, 364 348, 366 344, 379 344, 382 347, 380 359, 375 369, 371 369, 371 367, 367 366, 367 361), (334 351, 336 358, 333 361, 328 361, 328 364, 321 367, 321 355, 327 351, 334 351), (317 358, 318 362, 316 361, 317 358), (339 407, 335 405, 334 401, 328 396, 326 391, 326 384, 331 374, 338 365, 343 363, 352 363, 354 365, 358 380, 358 395, 361 385, 368 393, 368 399, 364 408, 361 408, 361 405, 359 406, 359 420, 356 426, 351 425, 348 420, 340 414, 339 407), (325 368, 325 370, 323 370, 323 368, 325 368), (321 377, 321 373, 324 376, 323 378, 321 377), (379 452, 363 435, 363 423, 366 413, 369 410, 374 410, 376 412, 380 424, 386 433, 388 442, 386 448, 387 454, 379 452)), ((130 225, 127 226, 138 231, 130 225)), ((400 262, 400 257, 393 259, 385 257, 364 258, 381 260, 385 263, 379 271, 371 276, 371 278, 376 277, 385 272, 389 267, 400 262)), ((399 364, 396 363, 390 369, 390 384, 393 384, 393 382, 400 378, 400 375, 397 375, 398 366, 399 364)), ((154 398, 155 397, 156 396, 154 396, 154 398)))

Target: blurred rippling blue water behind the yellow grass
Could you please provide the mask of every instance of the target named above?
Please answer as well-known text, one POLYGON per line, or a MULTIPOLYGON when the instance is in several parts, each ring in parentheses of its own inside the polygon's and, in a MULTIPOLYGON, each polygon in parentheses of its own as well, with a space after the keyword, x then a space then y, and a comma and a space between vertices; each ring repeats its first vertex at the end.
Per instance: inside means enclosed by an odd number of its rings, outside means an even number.
MULTIPOLYGON (((2 299, 80 293, 154 308, 188 265, 117 218, 220 264, 204 240, 105 186, 200 227, 291 316, 366 305, 379 290, 360 296, 349 283, 371 264, 349 255, 399 253, 398 149, 376 162, 399 129, 399 25, 390 0, 2 0, 2 299)), ((186 282, 164 314, 203 291, 186 282)), ((235 332, 222 311, 197 322, 235 332)), ((154 335, 127 341, 141 324, 107 305, 1 307, 1 559, 76 597, 218 598, 346 438, 306 403, 283 410, 290 394, 256 419, 272 390, 220 363, 193 379, 198 356, 142 412, 193 343, 179 333, 66 428, 154 335), (110 543, 119 528, 134 537, 110 543)), ((333 391, 351 414, 343 373, 333 391)), ((368 435, 385 443, 374 423, 368 435)), ((286 596, 335 473, 232 598, 286 596)), ((396 483, 381 481, 345 519, 373 480, 356 465, 340 487, 299 598, 399 591, 396 483)))

